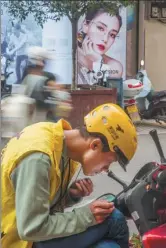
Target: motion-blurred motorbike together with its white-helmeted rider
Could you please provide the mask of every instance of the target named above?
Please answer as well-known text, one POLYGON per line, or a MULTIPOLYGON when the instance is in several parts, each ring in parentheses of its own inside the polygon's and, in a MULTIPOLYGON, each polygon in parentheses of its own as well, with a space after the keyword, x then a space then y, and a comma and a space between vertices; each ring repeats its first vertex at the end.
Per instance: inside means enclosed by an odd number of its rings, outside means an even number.
MULTIPOLYGON (((12 54, 11 49, 9 54, 12 54)), ((6 90, 6 81, 1 85, 5 89, 1 100, 2 137, 10 138, 36 122, 56 122, 66 118, 72 108, 70 94, 57 85, 56 76, 44 68, 48 61, 54 59, 52 52, 33 46, 29 47, 27 53, 28 67, 21 85, 14 85, 13 89, 10 86, 9 92, 6 90), (37 65, 39 68, 36 70, 37 65)), ((2 75, 6 76, 5 79, 8 76, 8 61, 8 55, 4 54, 2 75)))

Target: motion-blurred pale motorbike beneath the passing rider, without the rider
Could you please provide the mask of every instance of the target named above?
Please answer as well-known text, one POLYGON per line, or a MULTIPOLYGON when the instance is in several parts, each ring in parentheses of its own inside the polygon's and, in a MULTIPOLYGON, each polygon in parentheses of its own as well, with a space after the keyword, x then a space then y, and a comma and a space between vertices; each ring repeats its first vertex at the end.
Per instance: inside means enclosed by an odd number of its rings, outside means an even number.
POLYGON ((24 95, 24 88, 22 91, 22 94, 11 94, 1 100, 2 138, 11 138, 24 127, 36 122, 56 122, 60 118, 67 118, 72 110, 71 96, 68 92, 45 86, 43 93, 50 94, 39 103, 34 97, 24 95))

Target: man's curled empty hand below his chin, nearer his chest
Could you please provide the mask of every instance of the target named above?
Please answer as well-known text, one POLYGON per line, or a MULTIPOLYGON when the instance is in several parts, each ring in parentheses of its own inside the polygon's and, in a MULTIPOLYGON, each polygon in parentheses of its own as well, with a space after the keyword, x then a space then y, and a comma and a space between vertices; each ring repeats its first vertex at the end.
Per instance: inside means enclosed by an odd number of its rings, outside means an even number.
POLYGON ((69 189, 69 194, 73 198, 79 198, 90 195, 92 191, 93 183, 91 179, 85 178, 75 181, 69 189))

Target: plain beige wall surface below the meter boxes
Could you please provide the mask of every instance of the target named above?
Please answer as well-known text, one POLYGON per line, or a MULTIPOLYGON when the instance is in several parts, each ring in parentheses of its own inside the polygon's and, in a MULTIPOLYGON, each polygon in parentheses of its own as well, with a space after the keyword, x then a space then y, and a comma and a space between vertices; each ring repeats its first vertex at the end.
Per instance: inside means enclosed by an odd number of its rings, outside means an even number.
POLYGON ((166 90, 166 24, 145 21, 145 67, 156 90, 166 90))

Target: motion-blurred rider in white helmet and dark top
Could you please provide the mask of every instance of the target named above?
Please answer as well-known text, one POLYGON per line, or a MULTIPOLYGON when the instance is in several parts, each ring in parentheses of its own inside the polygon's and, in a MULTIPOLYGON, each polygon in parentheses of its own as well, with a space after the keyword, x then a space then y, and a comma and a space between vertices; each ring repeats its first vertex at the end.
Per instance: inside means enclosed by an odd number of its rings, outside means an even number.
POLYGON ((53 55, 47 49, 37 46, 30 47, 28 49, 28 68, 22 84, 26 86, 24 93, 36 100, 37 108, 46 109, 47 119, 57 121, 56 96, 57 92, 62 91, 63 88, 57 83, 57 75, 44 71, 46 62, 53 59, 53 55))

